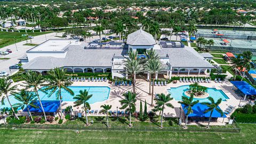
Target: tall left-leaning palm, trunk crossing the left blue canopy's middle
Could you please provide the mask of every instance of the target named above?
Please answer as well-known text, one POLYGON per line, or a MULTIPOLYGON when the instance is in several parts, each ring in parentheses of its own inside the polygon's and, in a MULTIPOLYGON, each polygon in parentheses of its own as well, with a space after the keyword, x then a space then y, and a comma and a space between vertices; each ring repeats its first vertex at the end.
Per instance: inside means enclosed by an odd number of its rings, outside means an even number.
POLYGON ((44 107, 42 105, 41 99, 40 99, 39 94, 38 94, 38 90, 43 91, 40 88, 40 86, 41 86, 41 84, 43 84, 45 82, 45 79, 43 78, 41 73, 36 73, 35 71, 31 71, 31 70, 28 70, 25 73, 25 75, 22 75, 22 78, 25 80, 25 82, 23 82, 23 84, 25 84, 26 87, 33 87, 33 91, 37 95, 37 99, 39 100, 39 103, 41 105, 41 108, 42 108, 42 111, 43 111, 43 114, 44 114, 44 118, 46 119, 46 115, 45 115, 45 112, 44 112, 44 107))

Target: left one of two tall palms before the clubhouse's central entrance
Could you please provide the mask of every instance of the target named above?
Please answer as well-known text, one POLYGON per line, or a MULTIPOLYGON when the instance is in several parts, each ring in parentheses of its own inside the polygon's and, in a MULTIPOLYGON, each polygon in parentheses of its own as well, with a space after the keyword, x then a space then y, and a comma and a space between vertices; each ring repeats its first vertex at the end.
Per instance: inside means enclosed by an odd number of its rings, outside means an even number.
POLYGON ((129 58, 124 61, 125 73, 132 76, 133 93, 135 93, 135 75, 142 71, 137 51, 129 51, 129 58))

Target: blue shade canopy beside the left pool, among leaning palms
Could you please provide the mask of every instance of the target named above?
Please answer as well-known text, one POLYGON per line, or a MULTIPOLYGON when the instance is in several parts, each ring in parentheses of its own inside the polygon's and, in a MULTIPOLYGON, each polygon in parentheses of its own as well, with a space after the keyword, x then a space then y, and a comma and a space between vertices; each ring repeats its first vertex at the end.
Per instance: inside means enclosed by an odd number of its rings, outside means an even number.
MULTIPOLYGON (((60 101, 58 101, 58 100, 41 100, 41 102, 42 102, 45 113, 54 113, 60 107, 60 101)), ((37 112, 37 113, 43 112, 39 101, 36 101, 34 103, 34 105, 36 105, 37 108, 28 106, 29 111, 37 112)), ((28 111, 27 107, 25 109, 23 109, 23 111, 28 111)))

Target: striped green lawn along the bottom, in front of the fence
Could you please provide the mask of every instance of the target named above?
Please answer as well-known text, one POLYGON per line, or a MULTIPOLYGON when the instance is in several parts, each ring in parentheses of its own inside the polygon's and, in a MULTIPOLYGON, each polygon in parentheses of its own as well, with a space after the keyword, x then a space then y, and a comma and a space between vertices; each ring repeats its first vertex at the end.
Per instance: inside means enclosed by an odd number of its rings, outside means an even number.
POLYGON ((120 132, 1 129, 1 143, 253 143, 255 124, 239 124, 240 133, 120 132))

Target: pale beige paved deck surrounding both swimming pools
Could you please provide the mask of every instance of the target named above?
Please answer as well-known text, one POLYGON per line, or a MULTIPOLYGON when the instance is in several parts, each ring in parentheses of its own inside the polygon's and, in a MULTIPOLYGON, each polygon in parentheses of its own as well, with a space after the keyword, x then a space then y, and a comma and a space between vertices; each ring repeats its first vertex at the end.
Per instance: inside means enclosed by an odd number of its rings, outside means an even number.
MULTIPOLYGON (((15 83, 15 84, 21 84, 21 82, 19 83, 15 83)), ((157 93, 164 93, 164 94, 169 94, 167 92, 167 89, 170 89, 170 87, 178 87, 178 86, 182 86, 182 85, 189 85, 191 83, 184 83, 184 82, 177 82, 176 84, 170 83, 167 84, 167 86, 154 86, 154 94, 157 93)), ((211 81, 211 83, 199 83, 202 86, 206 86, 206 87, 214 87, 217 90, 222 90, 229 99, 227 99, 227 101, 222 101, 220 104, 220 108, 222 109, 222 111, 225 111, 225 109, 228 106, 234 106, 236 108, 238 108, 239 105, 239 101, 241 99, 241 97, 238 97, 238 95, 235 93, 234 90, 232 90, 232 84, 228 81, 222 82, 222 83, 215 83, 214 81, 211 81)), ((119 100, 123 99, 123 93, 127 92, 127 91, 132 91, 132 86, 114 86, 112 84, 109 84, 108 82, 74 82, 72 84, 72 86, 108 86, 110 87, 110 93, 109 93, 109 98, 106 101, 102 101, 102 102, 96 102, 91 104, 91 110, 101 110, 102 108, 100 108, 101 105, 112 105, 111 110, 116 110, 116 108, 121 107, 121 104, 119 102, 119 100)), ((137 102, 136 102, 136 109, 137 111, 139 111, 139 106, 140 106, 140 100, 142 101, 142 105, 144 107, 144 101, 147 101, 147 110, 151 110, 154 107, 150 106, 151 103, 151 94, 148 94, 149 91, 149 83, 144 81, 144 80, 140 80, 138 79, 136 82, 136 92, 137 92, 137 102)), ((22 86, 18 86, 18 89, 21 89, 22 86)), ((180 103, 178 103, 178 101, 176 100, 172 100, 170 101, 172 103, 172 105, 174 106, 174 108, 169 108, 166 107, 164 110, 164 116, 165 117, 179 117, 180 114, 180 103)), ((241 105, 245 105, 247 103, 247 101, 241 101, 241 105)), ((67 106, 73 106, 74 102, 70 102, 70 101, 63 101, 62 102, 62 109, 66 108, 67 106)), ((73 107, 75 113, 82 113, 82 115, 84 115, 84 110, 82 106, 79 107, 73 107)), ((184 116, 184 113, 182 111, 182 117, 184 116)), ((103 115, 93 115, 93 114, 89 114, 89 116, 103 116, 103 115)), ((227 115, 227 118, 225 118, 224 122, 228 122, 229 121, 229 117, 230 114, 227 115)), ((218 119, 218 123, 212 123, 211 125, 224 125, 225 123, 222 123, 223 118, 219 118, 218 119)), ((193 123, 191 123, 193 124, 193 123)), ((204 125, 206 125, 207 123, 203 123, 204 125)))

